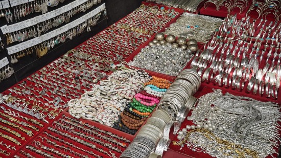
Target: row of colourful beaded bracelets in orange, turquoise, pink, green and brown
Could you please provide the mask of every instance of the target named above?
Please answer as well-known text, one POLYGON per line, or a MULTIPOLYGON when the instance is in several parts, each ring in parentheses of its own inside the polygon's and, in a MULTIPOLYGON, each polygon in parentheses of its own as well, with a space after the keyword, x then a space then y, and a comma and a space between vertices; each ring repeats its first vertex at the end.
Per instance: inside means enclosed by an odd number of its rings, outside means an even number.
POLYGON ((144 91, 136 94, 120 114, 119 123, 115 122, 114 128, 134 134, 152 113, 171 83, 153 76, 145 85, 144 91))

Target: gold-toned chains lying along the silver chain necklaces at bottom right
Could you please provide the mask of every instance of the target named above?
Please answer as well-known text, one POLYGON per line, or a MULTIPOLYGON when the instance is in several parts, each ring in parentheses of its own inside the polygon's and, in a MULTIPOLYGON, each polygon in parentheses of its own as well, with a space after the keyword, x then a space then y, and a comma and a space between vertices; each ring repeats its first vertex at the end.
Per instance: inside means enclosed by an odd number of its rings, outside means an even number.
MULTIPOLYGON (((231 152, 229 153, 237 153, 239 157, 246 157, 245 154, 250 155, 253 158, 259 157, 259 154, 256 151, 250 150, 248 148, 243 148, 241 145, 237 145, 227 140, 220 139, 219 137, 216 137, 212 132, 208 131, 207 129, 198 129, 198 128, 192 129, 186 132, 185 137, 181 139, 179 142, 173 141, 173 145, 182 146, 186 141, 189 140, 189 137, 191 136, 192 132, 201 132, 204 135, 204 137, 207 138, 208 140, 224 145, 224 147, 218 149, 221 152, 223 149, 226 149, 226 150, 231 150, 231 152)), ((223 154, 226 156, 230 156, 229 153, 223 153, 223 154)))

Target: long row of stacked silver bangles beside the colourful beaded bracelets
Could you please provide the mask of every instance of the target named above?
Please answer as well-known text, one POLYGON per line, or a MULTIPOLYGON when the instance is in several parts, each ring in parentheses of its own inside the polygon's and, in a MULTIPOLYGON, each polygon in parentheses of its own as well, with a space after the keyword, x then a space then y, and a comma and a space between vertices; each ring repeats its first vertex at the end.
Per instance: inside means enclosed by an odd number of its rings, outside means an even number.
POLYGON ((133 143, 120 157, 162 156, 171 143, 171 127, 174 126, 175 134, 195 103, 196 98, 192 95, 197 92, 200 84, 200 76, 195 71, 183 70, 162 96, 158 109, 140 128, 133 143))

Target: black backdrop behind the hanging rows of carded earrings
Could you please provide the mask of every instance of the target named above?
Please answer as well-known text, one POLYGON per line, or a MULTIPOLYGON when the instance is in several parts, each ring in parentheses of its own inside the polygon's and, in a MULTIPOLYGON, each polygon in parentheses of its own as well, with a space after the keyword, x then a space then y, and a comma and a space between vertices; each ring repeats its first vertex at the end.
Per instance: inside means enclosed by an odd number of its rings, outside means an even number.
MULTIPOLYGON (((92 7, 92 9, 90 9, 90 10, 95 9, 96 7, 100 6, 104 2, 106 4, 107 17, 103 18, 103 16, 101 16, 97 25, 95 27, 92 27, 90 32, 87 32, 85 30, 82 34, 74 37, 72 40, 67 40, 63 44, 59 44, 58 46, 55 46, 54 49, 49 51, 48 54, 46 54, 45 56, 43 56, 41 58, 37 58, 36 54, 33 53, 30 56, 25 56, 23 58, 20 58, 19 62, 16 64, 12 64, 12 65, 10 64, 10 66, 12 66, 13 69, 15 70, 15 73, 10 78, 5 79, 0 82, 0 93, 5 91, 5 89, 9 88, 10 86, 14 85, 15 83, 19 82, 20 80, 28 77, 35 71, 41 69, 46 64, 54 61, 56 58, 65 54, 68 50, 75 48, 83 41, 85 41, 88 38, 92 37, 93 35, 99 33, 100 31, 102 31, 106 27, 112 25, 114 22, 118 21, 119 19, 123 18, 124 16, 128 15, 129 13, 134 11, 136 8, 138 8, 140 6, 140 4, 142 3, 141 0, 133 0, 133 1, 130 1, 130 0, 103 0, 102 3, 98 4, 97 6, 92 7)), ((57 6, 57 7, 61 7, 63 5, 65 5, 65 4, 60 4, 60 6, 57 6)), ((56 9, 56 8, 54 8, 54 9, 56 9)), ((22 20, 32 17, 32 15, 29 15, 29 16, 30 17, 23 18, 22 20)), ((34 16, 37 16, 37 15, 34 15, 34 16)), ((81 14, 78 15, 74 19, 76 19, 80 16, 82 16, 82 15, 81 14)), ((71 19, 71 20, 74 20, 74 19, 71 19)), ((0 19, 0 27, 7 24, 5 20, 6 20, 5 18, 0 19)), ((9 25, 11 25, 11 24, 9 24, 9 25)), ((0 36, 3 39, 5 48, 7 48, 7 44, 5 43, 6 38, 4 37, 3 34, 0 34, 0 36)), ((17 44, 17 43, 15 43, 15 44, 17 44)), ((11 46, 12 45, 13 44, 11 44, 11 46)), ((9 47, 11 47, 11 46, 9 46, 9 47)), ((1 49, 2 48, 0 48, 0 50, 1 49)), ((7 52, 1 50, 0 59, 7 56, 7 54, 8 54, 7 52)), ((8 57, 8 58, 10 61, 10 57, 8 57)))

